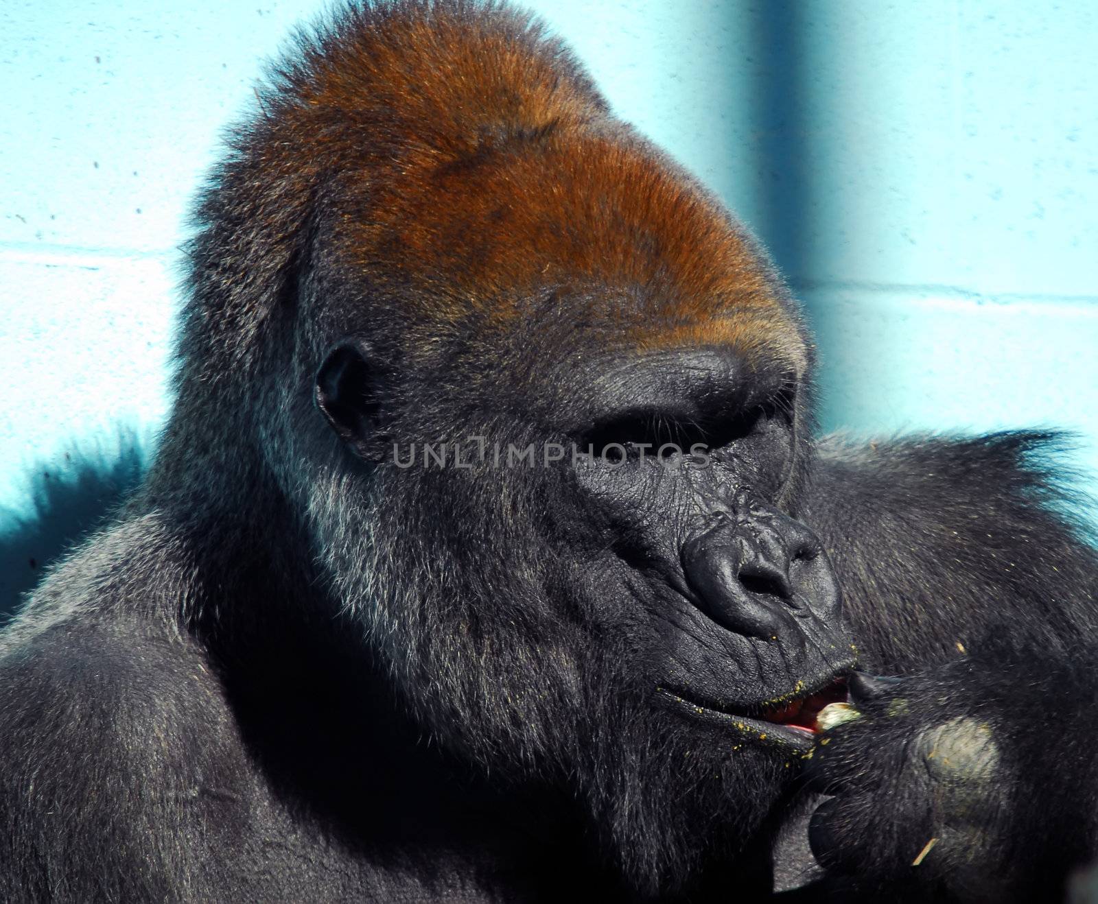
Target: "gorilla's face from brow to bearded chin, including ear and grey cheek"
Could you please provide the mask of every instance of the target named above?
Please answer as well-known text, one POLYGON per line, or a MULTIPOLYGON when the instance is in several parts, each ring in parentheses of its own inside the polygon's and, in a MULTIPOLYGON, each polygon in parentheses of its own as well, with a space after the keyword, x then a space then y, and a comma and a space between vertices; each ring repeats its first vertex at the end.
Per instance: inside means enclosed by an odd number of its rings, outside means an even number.
POLYGON ((348 543, 329 524, 325 549, 361 556, 335 573, 372 576, 357 611, 396 687, 494 776, 579 777, 641 885, 703 857, 695 838, 727 857, 852 664, 827 556, 783 510, 804 454, 795 385, 739 375, 727 349, 642 353, 617 394, 589 393, 597 416, 515 430, 514 410, 459 418, 442 373, 429 410, 382 410, 401 394, 369 385, 393 369, 368 354, 340 346, 317 381, 336 433, 376 454, 357 474, 370 530, 348 543))

